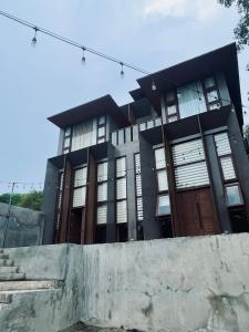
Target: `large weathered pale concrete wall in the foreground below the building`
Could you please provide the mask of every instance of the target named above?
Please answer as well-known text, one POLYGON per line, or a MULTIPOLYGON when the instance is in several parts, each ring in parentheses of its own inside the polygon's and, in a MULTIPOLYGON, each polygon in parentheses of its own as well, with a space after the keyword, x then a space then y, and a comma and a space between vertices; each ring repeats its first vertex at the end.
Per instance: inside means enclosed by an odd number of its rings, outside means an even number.
POLYGON ((8 253, 31 279, 41 271, 43 279, 64 278, 64 286, 60 295, 18 294, 19 300, 0 310, 0 331, 52 332, 76 321, 158 332, 249 331, 247 234, 8 253), (23 317, 23 330, 4 330, 10 318, 18 326, 23 317), (24 330, 25 324, 32 329, 24 330))

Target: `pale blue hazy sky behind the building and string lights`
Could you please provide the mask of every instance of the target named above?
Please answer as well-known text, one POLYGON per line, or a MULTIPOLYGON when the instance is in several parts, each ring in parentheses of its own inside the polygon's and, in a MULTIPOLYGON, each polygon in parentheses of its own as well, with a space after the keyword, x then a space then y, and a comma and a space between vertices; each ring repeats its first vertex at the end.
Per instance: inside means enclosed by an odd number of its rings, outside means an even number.
MULTIPOLYGON (((217 0, 1 0, 0 10, 155 72, 234 42, 239 15, 217 0)), ((0 194, 39 189, 59 129, 46 117, 105 94, 132 101, 142 75, 0 15, 0 194), (33 185, 31 185, 33 184, 33 185)), ((243 104, 249 104, 249 49, 238 54, 243 104)), ((249 123, 249 115, 245 115, 249 123)))

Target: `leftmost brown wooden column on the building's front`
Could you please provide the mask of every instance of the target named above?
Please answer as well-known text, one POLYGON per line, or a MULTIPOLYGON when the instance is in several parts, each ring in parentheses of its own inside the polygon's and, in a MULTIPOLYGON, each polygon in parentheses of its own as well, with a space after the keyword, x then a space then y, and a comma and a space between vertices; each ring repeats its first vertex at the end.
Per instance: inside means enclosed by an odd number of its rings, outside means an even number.
POLYGON ((72 165, 68 157, 64 162, 64 181, 62 191, 61 205, 61 226, 59 242, 68 242, 69 240, 69 219, 70 219, 70 204, 71 204, 71 186, 72 186, 72 165))

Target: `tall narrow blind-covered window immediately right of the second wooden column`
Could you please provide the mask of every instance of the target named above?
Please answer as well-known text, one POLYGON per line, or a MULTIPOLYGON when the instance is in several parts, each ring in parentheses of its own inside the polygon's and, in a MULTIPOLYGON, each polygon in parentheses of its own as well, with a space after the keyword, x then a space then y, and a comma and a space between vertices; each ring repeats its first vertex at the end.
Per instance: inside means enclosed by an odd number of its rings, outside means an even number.
POLYGON ((97 225, 107 222, 107 162, 97 164, 97 225))

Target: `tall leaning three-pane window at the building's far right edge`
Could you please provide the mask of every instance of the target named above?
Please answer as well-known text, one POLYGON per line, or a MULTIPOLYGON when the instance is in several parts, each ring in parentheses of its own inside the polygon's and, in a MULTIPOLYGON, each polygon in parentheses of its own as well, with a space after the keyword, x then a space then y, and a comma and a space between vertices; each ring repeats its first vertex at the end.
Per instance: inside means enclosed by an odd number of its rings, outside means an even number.
POLYGON ((214 136, 216 152, 220 165, 220 172, 224 179, 224 190, 226 195, 227 205, 242 205, 242 194, 240 186, 237 183, 236 169, 231 155, 231 146, 228 137, 228 133, 220 133, 214 136))

